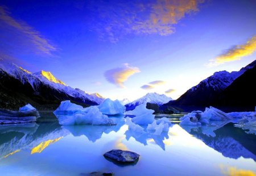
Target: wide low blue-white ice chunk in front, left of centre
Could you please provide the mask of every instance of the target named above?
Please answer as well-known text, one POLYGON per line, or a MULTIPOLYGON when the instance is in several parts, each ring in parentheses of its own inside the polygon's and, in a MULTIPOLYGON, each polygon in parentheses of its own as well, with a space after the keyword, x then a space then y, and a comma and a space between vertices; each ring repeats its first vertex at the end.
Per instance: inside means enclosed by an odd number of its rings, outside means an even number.
POLYGON ((101 113, 97 106, 81 109, 73 115, 56 115, 60 125, 114 125, 112 119, 101 113))

